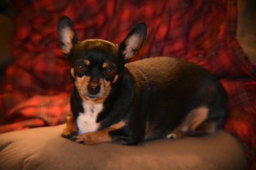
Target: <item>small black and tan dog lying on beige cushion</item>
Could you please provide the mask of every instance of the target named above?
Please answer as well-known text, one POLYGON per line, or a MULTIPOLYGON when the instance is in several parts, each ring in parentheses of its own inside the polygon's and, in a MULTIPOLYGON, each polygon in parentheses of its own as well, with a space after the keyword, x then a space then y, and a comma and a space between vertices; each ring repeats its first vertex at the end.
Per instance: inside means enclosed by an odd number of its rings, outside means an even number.
POLYGON ((125 64, 146 36, 141 23, 119 45, 102 39, 78 41, 72 21, 60 19, 58 38, 74 82, 72 115, 63 137, 86 145, 134 145, 220 129, 227 95, 205 69, 173 57, 125 64))

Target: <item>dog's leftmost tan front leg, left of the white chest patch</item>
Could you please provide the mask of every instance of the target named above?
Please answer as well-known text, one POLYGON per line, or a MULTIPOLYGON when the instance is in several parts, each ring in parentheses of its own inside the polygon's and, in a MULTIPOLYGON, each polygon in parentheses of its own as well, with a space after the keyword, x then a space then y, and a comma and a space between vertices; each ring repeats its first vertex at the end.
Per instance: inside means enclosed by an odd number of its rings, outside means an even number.
POLYGON ((77 125, 73 115, 67 117, 67 127, 62 132, 61 136, 67 139, 71 139, 73 136, 77 135, 77 125))

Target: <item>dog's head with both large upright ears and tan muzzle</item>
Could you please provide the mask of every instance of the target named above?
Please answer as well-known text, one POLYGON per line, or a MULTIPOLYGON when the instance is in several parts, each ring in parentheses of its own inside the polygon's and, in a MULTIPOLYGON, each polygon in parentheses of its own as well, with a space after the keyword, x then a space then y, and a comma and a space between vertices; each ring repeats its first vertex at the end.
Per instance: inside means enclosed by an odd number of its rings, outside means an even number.
POLYGON ((147 27, 140 23, 119 45, 102 39, 78 41, 72 21, 62 17, 58 23, 61 51, 70 62, 70 74, 82 99, 104 101, 146 36, 147 27))

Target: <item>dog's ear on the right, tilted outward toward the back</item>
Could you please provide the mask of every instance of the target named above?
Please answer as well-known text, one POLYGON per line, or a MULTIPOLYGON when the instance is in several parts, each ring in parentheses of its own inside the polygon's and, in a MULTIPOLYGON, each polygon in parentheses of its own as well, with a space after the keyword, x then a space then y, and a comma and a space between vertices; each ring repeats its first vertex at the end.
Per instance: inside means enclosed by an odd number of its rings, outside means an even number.
POLYGON ((120 43, 120 50, 124 56, 124 62, 129 61, 134 54, 141 48, 147 37, 147 25, 144 23, 137 24, 132 31, 120 43))

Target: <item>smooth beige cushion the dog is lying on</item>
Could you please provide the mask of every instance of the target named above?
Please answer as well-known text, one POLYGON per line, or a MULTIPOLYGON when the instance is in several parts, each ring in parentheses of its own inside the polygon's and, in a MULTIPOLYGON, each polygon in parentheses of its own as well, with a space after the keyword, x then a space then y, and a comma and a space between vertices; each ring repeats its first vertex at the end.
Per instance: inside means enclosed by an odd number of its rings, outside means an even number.
POLYGON ((0 135, 0 169, 246 169, 240 143, 227 132, 157 139, 138 146, 81 145, 61 138, 64 126, 0 135))

